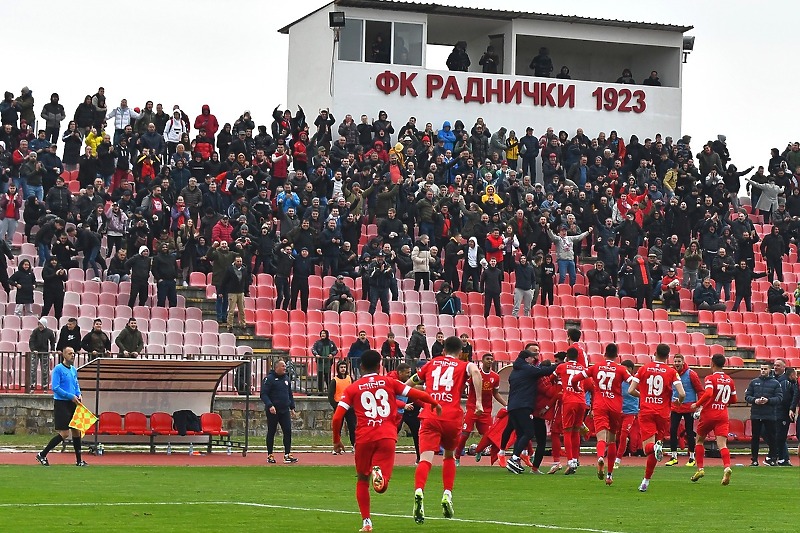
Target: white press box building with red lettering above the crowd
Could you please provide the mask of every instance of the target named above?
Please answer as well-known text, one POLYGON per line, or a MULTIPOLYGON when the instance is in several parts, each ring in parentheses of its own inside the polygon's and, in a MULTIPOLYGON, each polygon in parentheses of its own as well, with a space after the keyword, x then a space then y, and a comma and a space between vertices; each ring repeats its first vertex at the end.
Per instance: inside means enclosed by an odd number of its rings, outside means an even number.
MULTIPOLYGON (((524 135, 532 126, 590 137, 612 129, 626 141, 655 133, 681 135, 681 65, 693 38, 690 26, 471 9, 395 0, 334 0, 279 31, 289 35, 288 104, 310 118, 329 108, 337 122, 356 122, 386 110, 395 127, 410 116, 418 126, 461 119, 471 128, 484 117, 524 135), (344 26, 341 26, 342 23, 344 26), (373 46, 384 41, 382 62, 373 46), (467 44, 468 72, 428 68, 427 45, 467 44), (483 74, 488 45, 499 55, 498 74, 483 74), (547 47, 555 76, 562 65, 571 80, 536 77, 529 68, 547 47), (615 83, 623 69, 636 85, 615 83), (639 85, 657 71, 662 86, 639 85)), ((442 67, 444 68, 444 67, 442 67)))

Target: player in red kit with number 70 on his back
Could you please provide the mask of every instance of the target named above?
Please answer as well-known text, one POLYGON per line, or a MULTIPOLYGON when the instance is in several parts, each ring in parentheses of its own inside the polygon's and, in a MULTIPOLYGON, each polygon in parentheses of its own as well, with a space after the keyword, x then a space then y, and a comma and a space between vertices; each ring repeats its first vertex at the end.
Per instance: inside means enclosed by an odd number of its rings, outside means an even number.
POLYGON ((728 405, 736 403, 736 388, 733 379, 722 369, 725 367, 725 356, 716 354, 711 358, 711 374, 706 376, 704 391, 697 402, 692 404, 692 409, 698 409, 697 444, 694 447, 697 472, 692 475, 692 481, 699 481, 706 473, 703 470, 705 461, 706 435, 711 431, 717 437, 717 447, 722 456, 722 484, 731 481, 731 452, 728 450, 728 405))

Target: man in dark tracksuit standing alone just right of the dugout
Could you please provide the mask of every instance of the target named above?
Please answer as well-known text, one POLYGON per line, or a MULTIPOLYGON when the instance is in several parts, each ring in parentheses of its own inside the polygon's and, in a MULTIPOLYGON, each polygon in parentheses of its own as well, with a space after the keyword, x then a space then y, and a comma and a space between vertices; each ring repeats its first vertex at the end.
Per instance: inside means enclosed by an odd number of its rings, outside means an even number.
POLYGON ((267 410, 267 462, 274 464, 272 449, 275 446, 275 433, 278 424, 283 433, 283 462, 296 463, 292 455, 292 416, 294 415, 294 396, 292 382, 286 373, 286 362, 279 360, 261 382, 261 401, 267 410))

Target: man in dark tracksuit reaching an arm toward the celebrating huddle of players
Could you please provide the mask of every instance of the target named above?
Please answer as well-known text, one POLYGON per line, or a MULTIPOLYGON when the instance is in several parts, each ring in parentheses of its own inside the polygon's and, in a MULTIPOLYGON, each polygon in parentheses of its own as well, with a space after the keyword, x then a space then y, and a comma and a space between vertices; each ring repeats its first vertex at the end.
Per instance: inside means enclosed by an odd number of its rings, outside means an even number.
POLYGON ((536 405, 539 378, 556 370, 555 365, 534 366, 538 357, 538 345, 522 350, 508 376, 508 423, 514 428, 517 441, 514 443, 514 454, 506 463, 506 468, 514 474, 521 474, 524 471, 524 467, 520 464, 520 454, 528 447, 535 433, 531 414, 536 405))

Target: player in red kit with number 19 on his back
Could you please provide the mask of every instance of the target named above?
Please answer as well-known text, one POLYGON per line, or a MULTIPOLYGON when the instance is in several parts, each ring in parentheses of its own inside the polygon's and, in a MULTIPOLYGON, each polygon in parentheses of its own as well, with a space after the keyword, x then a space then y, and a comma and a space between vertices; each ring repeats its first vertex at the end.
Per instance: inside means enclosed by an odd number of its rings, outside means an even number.
POLYGON ((644 479, 639 485, 639 492, 647 492, 656 464, 664 458, 661 440, 669 431, 672 389, 678 391, 676 398, 678 403, 682 403, 686 397, 681 378, 675 369, 667 364, 667 359, 669 359, 669 346, 659 344, 656 347, 656 360, 639 368, 628 389, 628 394, 639 397, 639 429, 642 433, 644 453, 647 455, 647 466, 644 479))

